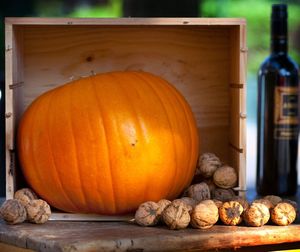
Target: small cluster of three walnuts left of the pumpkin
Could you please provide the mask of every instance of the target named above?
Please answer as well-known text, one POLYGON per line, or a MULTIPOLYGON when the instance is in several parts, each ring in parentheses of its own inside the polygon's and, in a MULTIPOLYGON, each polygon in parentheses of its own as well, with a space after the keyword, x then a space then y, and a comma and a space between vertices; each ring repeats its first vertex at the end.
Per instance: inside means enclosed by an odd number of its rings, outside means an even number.
POLYGON ((51 209, 48 203, 38 199, 29 188, 15 192, 14 199, 6 200, 0 207, 0 216, 7 224, 19 224, 24 221, 42 224, 48 221, 51 209))

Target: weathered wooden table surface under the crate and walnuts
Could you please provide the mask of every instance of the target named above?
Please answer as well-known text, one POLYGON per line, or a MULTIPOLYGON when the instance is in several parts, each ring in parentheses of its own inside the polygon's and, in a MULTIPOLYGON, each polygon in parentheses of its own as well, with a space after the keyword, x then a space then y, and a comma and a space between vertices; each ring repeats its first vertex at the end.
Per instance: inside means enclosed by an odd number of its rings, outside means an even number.
MULTIPOLYGON (((249 200, 256 197, 253 190, 247 195, 249 200)), ((300 188, 294 197, 298 204, 299 196, 300 188)), ((286 227, 218 224, 207 230, 177 231, 164 226, 140 227, 129 222, 48 221, 43 225, 7 225, 0 221, 0 242, 0 251, 222 251, 228 248, 268 251, 300 248, 300 218, 298 214, 296 222, 286 227)))

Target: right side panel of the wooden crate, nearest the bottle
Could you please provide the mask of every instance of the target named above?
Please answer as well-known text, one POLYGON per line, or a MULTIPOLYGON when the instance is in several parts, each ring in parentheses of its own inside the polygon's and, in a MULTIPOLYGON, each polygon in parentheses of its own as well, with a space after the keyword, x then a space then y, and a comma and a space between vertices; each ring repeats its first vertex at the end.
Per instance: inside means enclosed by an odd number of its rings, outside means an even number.
POLYGON ((246 38, 245 26, 231 30, 230 159, 238 167, 239 189, 246 188, 246 38))

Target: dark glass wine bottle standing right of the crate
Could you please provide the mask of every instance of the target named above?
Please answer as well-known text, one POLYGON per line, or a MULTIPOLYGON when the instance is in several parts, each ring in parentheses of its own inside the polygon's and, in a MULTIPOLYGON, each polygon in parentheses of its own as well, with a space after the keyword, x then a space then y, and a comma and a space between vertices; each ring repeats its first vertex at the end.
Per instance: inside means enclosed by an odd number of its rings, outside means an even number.
POLYGON ((258 73, 257 177, 260 195, 297 191, 298 68, 288 55, 287 5, 272 6, 271 53, 258 73))

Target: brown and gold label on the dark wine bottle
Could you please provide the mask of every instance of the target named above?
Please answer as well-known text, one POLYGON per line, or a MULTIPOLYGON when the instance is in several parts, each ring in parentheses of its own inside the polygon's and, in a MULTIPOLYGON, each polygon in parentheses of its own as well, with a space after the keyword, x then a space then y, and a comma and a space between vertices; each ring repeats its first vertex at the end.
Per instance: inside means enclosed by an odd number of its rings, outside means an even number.
POLYGON ((298 87, 275 88, 275 139, 298 137, 298 87))

